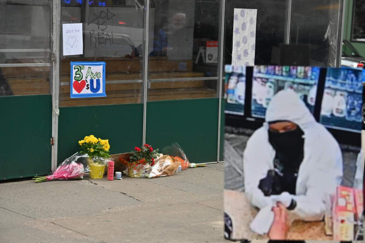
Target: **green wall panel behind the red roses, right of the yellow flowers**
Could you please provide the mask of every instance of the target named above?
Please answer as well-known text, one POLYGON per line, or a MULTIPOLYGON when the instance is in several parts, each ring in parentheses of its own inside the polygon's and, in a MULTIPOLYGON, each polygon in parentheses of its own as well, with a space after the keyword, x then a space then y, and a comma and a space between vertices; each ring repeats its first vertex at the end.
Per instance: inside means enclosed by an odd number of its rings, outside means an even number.
POLYGON ((147 102, 146 142, 180 144, 190 162, 217 161, 218 98, 147 102))

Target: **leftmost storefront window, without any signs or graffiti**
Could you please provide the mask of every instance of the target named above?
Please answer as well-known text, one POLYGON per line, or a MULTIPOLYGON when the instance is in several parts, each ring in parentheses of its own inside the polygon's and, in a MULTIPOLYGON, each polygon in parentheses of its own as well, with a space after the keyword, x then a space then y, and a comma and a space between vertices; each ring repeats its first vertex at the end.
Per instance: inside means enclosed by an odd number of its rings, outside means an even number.
POLYGON ((0 1, 0 96, 50 93, 50 1, 0 1))

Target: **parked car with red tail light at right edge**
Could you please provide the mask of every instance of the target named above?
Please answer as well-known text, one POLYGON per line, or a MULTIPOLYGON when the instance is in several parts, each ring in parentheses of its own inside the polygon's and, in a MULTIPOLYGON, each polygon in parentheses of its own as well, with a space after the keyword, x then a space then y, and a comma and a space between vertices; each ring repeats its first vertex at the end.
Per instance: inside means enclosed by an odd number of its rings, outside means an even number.
POLYGON ((360 55, 348 40, 343 40, 342 42, 341 66, 365 68, 365 58, 360 55))

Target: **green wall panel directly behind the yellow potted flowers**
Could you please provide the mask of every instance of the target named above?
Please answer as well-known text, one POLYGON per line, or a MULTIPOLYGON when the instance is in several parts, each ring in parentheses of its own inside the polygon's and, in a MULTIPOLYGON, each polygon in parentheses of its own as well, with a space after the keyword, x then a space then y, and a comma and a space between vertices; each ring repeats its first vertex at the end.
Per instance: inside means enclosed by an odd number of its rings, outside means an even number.
POLYGON ((78 152, 78 141, 90 134, 109 139, 111 154, 142 145, 143 104, 59 108, 58 164, 78 152))

